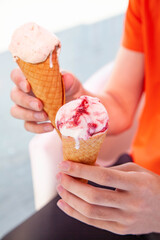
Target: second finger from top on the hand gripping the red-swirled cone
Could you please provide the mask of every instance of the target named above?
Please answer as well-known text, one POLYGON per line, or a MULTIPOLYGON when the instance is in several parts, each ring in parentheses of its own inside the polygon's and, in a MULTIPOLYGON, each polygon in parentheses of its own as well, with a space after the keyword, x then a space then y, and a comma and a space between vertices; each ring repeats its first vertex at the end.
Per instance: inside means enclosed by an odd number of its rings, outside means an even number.
POLYGON ((124 206, 127 205, 127 199, 122 192, 95 188, 91 185, 77 181, 66 174, 60 174, 60 183, 63 188, 89 204, 114 208, 124 208, 124 206))

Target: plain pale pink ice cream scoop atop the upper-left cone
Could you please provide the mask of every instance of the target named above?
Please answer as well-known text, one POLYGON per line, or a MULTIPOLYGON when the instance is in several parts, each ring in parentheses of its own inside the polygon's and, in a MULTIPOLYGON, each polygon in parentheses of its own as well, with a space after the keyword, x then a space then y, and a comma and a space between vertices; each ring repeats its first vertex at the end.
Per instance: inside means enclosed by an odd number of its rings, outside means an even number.
POLYGON ((26 23, 17 28, 12 36, 9 50, 15 60, 22 59, 28 63, 44 62, 57 48, 60 50, 59 39, 36 23, 26 23))

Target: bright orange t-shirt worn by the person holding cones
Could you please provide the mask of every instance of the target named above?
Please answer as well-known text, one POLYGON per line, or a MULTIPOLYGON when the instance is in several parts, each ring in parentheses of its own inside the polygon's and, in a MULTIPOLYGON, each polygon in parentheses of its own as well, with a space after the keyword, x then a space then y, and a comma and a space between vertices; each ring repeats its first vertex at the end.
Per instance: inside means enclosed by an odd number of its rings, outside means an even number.
POLYGON ((129 1, 122 45, 145 55, 145 105, 131 154, 160 174, 160 0, 129 1))

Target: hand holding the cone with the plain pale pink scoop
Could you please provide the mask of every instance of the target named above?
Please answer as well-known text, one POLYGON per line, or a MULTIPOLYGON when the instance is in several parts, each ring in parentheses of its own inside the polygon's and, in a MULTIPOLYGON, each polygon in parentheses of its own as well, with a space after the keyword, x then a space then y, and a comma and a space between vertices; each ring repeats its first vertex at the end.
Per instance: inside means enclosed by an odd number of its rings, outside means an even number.
MULTIPOLYGON (((81 83, 71 73, 62 72, 66 90, 66 102, 75 99, 84 93, 81 83)), ((11 79, 15 87, 11 91, 11 99, 15 105, 11 108, 11 115, 24 120, 27 131, 45 133, 53 131, 53 125, 43 111, 43 103, 31 91, 31 86, 25 79, 22 71, 17 68, 11 72, 11 79)))

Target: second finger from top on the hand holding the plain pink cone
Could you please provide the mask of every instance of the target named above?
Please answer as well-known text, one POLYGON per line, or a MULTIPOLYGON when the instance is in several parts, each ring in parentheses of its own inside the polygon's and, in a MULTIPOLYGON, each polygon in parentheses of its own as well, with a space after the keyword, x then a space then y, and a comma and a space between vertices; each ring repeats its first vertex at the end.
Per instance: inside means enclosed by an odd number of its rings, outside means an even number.
POLYGON ((14 87, 12 89, 11 99, 14 103, 23 108, 31 109, 34 111, 42 111, 43 109, 43 104, 39 99, 22 92, 17 87, 14 87))

